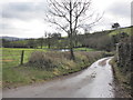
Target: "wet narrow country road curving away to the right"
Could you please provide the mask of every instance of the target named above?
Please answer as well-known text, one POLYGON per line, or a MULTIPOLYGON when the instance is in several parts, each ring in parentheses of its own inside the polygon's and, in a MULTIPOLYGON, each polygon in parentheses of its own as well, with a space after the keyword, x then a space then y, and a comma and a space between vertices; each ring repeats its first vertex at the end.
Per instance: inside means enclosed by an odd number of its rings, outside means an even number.
POLYGON ((3 90, 3 98, 114 98, 111 58, 86 70, 38 86, 3 90))

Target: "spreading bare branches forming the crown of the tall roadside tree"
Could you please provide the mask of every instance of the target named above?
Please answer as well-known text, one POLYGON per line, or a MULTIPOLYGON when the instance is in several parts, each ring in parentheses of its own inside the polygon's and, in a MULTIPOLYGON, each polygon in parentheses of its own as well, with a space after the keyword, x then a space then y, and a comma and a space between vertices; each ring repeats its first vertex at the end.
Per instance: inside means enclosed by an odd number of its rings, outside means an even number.
MULTIPOLYGON (((68 32, 68 27, 70 27, 69 29, 71 32, 75 31, 80 27, 81 22, 86 19, 91 19, 94 16, 94 13, 90 13, 85 17, 86 11, 90 9, 91 0, 64 0, 63 2, 58 0, 49 1, 51 8, 51 10, 49 10, 49 13, 51 14, 49 22, 57 24, 65 32, 68 32), (64 27, 63 22, 61 23, 59 20, 54 20, 57 18, 65 19, 68 24, 64 27)), ((96 17, 95 21, 91 22, 90 26, 94 26, 101 18, 96 17)))

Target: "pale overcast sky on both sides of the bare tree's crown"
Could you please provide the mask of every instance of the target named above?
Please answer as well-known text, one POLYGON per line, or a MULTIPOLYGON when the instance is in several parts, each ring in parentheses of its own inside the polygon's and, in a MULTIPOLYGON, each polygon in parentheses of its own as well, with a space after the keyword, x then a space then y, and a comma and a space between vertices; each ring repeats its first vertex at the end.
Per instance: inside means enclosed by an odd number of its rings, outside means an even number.
MULTIPOLYGON (((93 9, 99 13, 104 12, 104 16, 91 31, 111 29, 114 22, 121 27, 131 26, 131 2, 132 0, 92 0, 93 9)), ((39 38, 45 31, 55 31, 43 20, 47 6, 47 0, 0 1, 0 37, 39 38)))

